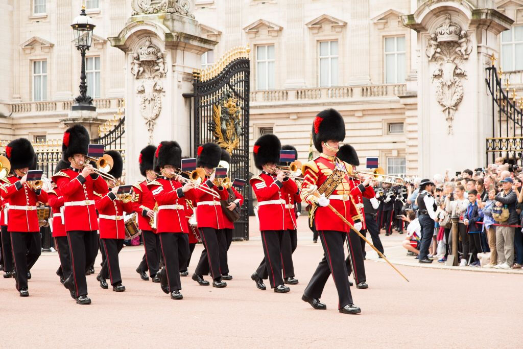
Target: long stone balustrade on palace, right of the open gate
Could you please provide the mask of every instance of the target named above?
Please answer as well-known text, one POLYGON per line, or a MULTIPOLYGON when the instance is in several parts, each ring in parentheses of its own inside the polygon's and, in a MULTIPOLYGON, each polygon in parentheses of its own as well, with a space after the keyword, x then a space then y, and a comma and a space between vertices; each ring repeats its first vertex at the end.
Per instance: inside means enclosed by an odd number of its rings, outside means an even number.
POLYGON ((251 92, 251 103, 287 102, 291 100, 351 99, 394 97, 406 93, 405 84, 272 89, 251 92))

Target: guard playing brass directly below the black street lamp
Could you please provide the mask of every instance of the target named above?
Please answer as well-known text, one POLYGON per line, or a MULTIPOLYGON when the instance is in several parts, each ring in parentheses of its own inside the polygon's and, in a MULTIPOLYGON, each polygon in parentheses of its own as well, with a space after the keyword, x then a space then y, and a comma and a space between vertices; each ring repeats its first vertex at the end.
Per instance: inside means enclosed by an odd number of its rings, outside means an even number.
POLYGON ((64 132, 62 152, 71 163, 69 168, 53 175, 52 179, 64 198, 64 221, 71 252, 72 276, 64 286, 78 304, 90 304, 87 297, 85 273, 93 265, 98 252, 98 221, 94 191, 107 193, 104 179, 92 167, 85 166, 89 133, 82 125, 64 132))

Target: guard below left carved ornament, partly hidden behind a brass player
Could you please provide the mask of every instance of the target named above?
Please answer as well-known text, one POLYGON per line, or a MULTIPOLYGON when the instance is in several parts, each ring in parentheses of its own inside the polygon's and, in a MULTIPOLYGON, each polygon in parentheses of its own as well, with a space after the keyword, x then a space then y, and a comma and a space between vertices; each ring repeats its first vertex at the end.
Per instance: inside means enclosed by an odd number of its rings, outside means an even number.
POLYGON ((153 170, 155 152, 156 147, 154 145, 147 145, 140 151, 138 162, 140 164, 140 173, 145 179, 133 185, 132 205, 138 215, 138 229, 142 231, 143 248, 145 250, 142 262, 136 269, 136 272, 140 274, 142 280, 146 281, 149 280, 149 276, 146 274, 147 270, 149 270, 153 283, 159 283, 160 278, 156 276, 156 273, 160 270, 160 237, 156 229, 151 226, 151 223, 154 225, 156 201, 153 194, 151 194, 151 190, 147 187, 147 184, 154 181, 157 177, 156 172, 153 170))

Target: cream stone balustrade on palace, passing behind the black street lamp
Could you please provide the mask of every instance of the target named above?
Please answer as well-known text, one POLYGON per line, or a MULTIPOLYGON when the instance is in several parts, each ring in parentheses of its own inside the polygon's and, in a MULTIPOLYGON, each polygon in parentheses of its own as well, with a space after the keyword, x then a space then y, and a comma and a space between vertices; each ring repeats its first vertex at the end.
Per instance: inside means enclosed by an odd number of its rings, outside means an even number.
MULTIPOLYGON (((97 109, 118 109, 123 107, 123 98, 97 98, 93 100, 97 109)), ((52 100, 43 102, 22 102, 7 104, 13 114, 29 114, 31 112, 69 111, 73 100, 52 100)))

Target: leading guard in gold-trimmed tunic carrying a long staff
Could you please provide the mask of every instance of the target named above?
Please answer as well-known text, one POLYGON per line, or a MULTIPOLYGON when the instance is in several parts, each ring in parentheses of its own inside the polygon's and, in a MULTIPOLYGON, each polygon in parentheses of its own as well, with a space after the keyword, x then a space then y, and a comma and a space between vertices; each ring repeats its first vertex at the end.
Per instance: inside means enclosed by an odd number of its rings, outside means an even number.
POLYGON ((326 309, 320 297, 332 274, 338 291, 339 312, 356 314, 361 310, 354 305, 350 294, 344 255, 344 243, 350 228, 328 207, 331 205, 347 221, 353 222, 356 208, 350 198, 348 164, 336 158, 339 142, 345 139, 345 123, 339 112, 334 109, 321 111, 314 118, 312 138, 314 147, 321 154, 303 165, 301 197, 313 206, 312 215, 320 233, 324 256, 305 288, 302 300, 309 302, 314 309, 326 309), (321 195, 317 196, 318 193, 321 195))

